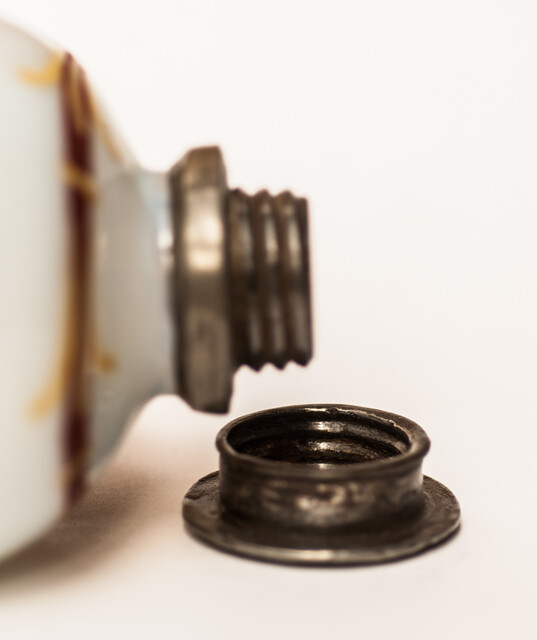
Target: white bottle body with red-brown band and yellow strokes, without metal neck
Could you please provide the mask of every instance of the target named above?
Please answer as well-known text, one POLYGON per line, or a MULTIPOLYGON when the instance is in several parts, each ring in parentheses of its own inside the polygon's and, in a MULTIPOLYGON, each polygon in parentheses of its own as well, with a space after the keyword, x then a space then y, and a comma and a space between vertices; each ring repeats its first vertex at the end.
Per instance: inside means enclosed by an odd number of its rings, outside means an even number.
POLYGON ((84 72, 0 23, 0 557, 81 495, 170 390, 163 177, 113 137, 84 72))

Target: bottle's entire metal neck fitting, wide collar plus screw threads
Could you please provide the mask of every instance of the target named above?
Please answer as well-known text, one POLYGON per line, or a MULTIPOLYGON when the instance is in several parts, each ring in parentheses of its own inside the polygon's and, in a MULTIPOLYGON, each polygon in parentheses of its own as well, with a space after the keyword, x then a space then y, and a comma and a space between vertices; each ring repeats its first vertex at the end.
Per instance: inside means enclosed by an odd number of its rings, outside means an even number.
POLYGON ((307 203, 229 191, 217 147, 187 153, 170 180, 179 392, 225 412, 240 365, 311 358, 307 203))

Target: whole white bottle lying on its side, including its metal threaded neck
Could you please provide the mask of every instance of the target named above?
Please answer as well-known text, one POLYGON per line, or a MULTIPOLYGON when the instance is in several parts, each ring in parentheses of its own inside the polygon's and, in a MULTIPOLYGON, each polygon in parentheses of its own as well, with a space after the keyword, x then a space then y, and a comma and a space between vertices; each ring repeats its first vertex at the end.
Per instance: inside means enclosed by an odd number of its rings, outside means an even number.
POLYGON ((306 203, 228 191, 217 148, 144 171, 84 71, 0 22, 0 558, 83 492, 132 415, 225 411, 311 355, 306 203))

